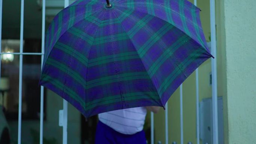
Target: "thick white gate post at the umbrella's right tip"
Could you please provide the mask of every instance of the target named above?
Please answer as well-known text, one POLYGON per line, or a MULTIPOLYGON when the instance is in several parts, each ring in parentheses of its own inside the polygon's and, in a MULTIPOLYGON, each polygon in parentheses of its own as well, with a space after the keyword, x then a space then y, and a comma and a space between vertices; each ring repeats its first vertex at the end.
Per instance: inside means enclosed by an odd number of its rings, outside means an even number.
POLYGON ((218 144, 218 110, 217 110, 217 64, 216 64, 216 21, 215 21, 215 0, 210 0, 210 21, 211 21, 211 76, 212 76, 212 107, 213 107, 213 144, 218 144))

